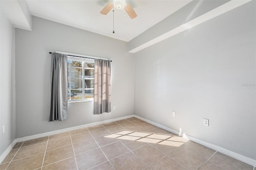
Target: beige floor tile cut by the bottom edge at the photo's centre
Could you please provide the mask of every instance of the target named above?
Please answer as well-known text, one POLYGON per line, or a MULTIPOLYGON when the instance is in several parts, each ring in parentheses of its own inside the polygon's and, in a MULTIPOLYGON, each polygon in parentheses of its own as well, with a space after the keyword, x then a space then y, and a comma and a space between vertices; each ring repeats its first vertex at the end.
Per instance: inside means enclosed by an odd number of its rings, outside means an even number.
POLYGON ((141 170, 147 166, 132 152, 110 160, 115 170, 141 170))

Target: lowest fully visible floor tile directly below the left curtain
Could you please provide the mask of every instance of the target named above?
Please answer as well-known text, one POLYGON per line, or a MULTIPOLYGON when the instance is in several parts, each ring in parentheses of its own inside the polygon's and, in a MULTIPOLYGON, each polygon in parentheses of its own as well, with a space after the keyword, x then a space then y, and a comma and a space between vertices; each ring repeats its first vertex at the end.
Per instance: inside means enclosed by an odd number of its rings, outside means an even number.
POLYGON ((52 164, 54 162, 74 156, 72 145, 64 146, 62 148, 47 151, 44 157, 44 165, 52 164))

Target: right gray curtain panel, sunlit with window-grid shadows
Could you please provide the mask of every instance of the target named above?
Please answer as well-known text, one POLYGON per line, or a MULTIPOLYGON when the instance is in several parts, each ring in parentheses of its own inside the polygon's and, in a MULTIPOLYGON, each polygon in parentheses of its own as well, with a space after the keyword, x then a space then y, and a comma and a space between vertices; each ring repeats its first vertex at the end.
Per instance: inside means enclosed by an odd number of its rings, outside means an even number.
POLYGON ((110 63, 94 59, 94 115, 111 112, 110 63))

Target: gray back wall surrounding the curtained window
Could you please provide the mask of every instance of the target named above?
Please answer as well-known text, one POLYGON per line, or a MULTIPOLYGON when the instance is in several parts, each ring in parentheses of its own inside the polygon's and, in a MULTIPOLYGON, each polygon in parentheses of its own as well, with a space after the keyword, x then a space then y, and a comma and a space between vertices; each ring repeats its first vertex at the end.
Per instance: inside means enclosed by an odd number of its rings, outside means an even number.
POLYGON ((134 58, 127 42, 32 17, 32 32, 16 28, 16 138, 134 114, 134 58), (93 102, 68 104, 68 119, 48 122, 49 51, 112 60, 111 113, 93 115, 93 102))

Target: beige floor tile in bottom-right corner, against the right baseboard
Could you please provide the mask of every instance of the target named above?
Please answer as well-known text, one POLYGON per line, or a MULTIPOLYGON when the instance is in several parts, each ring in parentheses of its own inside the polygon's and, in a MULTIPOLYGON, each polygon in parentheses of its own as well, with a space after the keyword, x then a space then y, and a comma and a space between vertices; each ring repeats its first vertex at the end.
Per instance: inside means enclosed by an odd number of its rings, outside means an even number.
POLYGON ((216 152, 209 161, 226 170, 253 170, 252 166, 219 152, 216 152))

